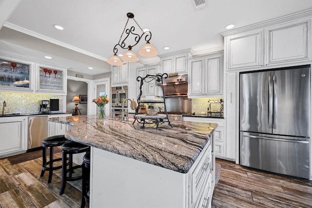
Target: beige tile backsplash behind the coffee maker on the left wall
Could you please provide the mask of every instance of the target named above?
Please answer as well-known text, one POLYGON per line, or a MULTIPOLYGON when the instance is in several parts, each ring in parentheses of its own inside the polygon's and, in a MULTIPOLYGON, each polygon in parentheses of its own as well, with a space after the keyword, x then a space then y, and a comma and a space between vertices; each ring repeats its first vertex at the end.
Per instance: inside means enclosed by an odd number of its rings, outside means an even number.
POLYGON ((5 101, 7 105, 5 108, 10 113, 36 113, 39 111, 41 100, 52 98, 59 99, 59 111, 63 111, 63 96, 61 95, 0 92, 0 110, 2 110, 3 101, 5 101))

